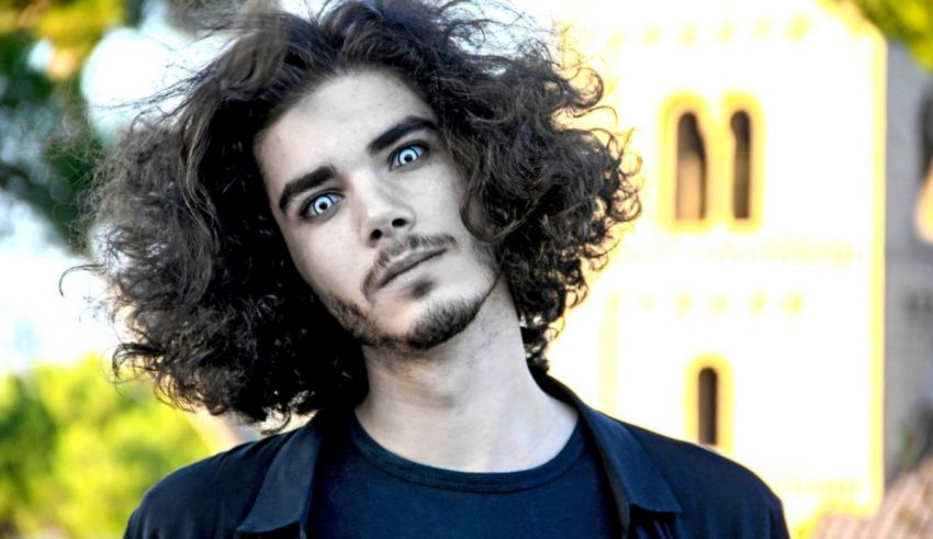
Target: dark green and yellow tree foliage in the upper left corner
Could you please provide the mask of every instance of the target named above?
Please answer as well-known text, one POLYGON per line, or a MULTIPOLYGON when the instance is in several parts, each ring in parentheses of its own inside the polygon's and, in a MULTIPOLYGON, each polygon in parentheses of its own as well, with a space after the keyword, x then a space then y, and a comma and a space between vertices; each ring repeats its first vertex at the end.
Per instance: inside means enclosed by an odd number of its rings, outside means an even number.
POLYGON ((0 189, 32 204, 65 238, 76 232, 101 154, 77 77, 103 33, 123 20, 121 0, 0 0, 0 189), (44 66, 31 66, 30 55, 44 56, 44 66))

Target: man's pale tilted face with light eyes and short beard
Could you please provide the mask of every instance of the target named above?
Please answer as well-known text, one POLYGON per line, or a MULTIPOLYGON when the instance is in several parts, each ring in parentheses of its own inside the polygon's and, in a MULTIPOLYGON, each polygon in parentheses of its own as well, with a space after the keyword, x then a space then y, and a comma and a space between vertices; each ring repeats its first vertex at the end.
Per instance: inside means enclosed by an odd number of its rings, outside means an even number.
POLYGON ((395 76, 325 81, 255 151, 295 267, 362 344, 426 349, 473 319, 492 256, 460 218, 463 179, 432 111, 395 76))

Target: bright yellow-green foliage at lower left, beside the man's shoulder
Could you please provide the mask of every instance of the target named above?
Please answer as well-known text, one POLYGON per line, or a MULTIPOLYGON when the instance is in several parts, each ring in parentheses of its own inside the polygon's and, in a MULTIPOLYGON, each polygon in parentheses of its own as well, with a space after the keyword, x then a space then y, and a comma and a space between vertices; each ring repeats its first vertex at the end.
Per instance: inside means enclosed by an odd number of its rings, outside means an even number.
POLYGON ((146 489, 209 453, 148 386, 117 389, 100 357, 0 378, 0 537, 120 537, 146 489))

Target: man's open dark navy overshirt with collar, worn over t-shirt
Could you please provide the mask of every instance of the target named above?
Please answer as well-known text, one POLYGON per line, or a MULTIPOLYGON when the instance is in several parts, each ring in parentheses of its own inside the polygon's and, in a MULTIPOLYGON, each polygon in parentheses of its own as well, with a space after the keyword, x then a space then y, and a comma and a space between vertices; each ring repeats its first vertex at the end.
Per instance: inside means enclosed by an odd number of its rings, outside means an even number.
MULTIPOLYGON (((745 468, 602 414, 553 379, 539 383, 580 414, 626 537, 788 537, 780 502, 745 468)), ((337 415, 323 411, 300 429, 170 474, 143 498, 125 537, 306 537, 315 462, 337 415)))

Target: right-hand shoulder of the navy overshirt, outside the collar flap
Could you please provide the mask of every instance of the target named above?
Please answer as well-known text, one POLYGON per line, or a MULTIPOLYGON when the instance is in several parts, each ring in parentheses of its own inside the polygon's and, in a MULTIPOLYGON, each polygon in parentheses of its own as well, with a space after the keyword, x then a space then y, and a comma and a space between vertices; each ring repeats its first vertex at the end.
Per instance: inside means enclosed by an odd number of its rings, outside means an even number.
POLYGON ((642 446, 666 480, 682 506, 684 531, 787 536, 780 499, 747 468, 696 443, 612 420, 642 446))

